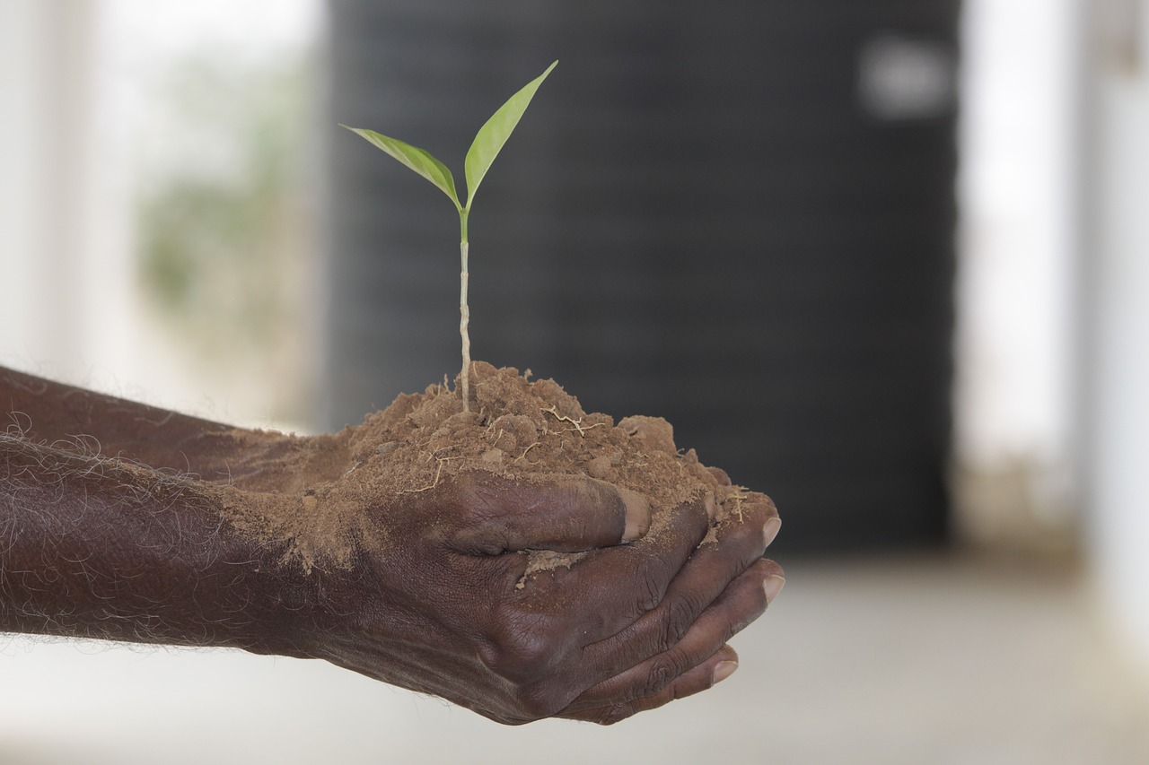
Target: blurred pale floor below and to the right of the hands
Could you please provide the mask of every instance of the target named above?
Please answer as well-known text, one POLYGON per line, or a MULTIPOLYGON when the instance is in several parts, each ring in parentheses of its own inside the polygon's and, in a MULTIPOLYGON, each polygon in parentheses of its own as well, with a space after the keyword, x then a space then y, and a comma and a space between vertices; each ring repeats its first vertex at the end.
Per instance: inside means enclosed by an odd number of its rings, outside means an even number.
POLYGON ((0 764, 1149 763, 1149 695, 1072 567, 784 564, 730 680, 611 728, 504 728, 316 662, 7 639, 0 764))

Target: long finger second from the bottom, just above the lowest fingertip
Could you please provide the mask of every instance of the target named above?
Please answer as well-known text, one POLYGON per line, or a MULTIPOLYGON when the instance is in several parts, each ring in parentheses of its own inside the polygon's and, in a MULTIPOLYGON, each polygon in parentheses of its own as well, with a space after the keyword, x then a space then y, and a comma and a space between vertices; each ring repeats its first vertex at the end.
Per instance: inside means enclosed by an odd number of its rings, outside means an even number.
POLYGON ((686 635, 657 656, 584 691, 572 710, 622 704, 653 696, 714 656, 727 640, 766 610, 785 582, 781 567, 759 561, 694 621, 686 635))

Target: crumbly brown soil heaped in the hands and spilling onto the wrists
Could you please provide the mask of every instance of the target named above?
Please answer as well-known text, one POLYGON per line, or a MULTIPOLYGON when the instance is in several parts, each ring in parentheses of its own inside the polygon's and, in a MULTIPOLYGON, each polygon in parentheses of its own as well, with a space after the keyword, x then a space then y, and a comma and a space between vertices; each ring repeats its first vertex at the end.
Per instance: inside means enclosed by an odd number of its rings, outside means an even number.
MULTIPOLYGON (((591 476, 638 492, 650 502, 650 534, 669 511, 691 501, 712 503, 714 523, 741 515, 761 494, 724 482, 720 470, 679 451, 670 423, 658 417, 587 414, 554 380, 529 379, 512 368, 475 362, 471 410, 456 392, 432 385, 400 395, 362 424, 336 434, 295 436, 239 431, 245 454, 225 493, 232 525, 269 542, 286 542, 306 567, 347 565, 356 544, 385 547, 365 507, 392 507, 452 476, 488 471, 531 481, 591 476)), ((529 572, 571 565, 578 555, 531 552, 529 572)))

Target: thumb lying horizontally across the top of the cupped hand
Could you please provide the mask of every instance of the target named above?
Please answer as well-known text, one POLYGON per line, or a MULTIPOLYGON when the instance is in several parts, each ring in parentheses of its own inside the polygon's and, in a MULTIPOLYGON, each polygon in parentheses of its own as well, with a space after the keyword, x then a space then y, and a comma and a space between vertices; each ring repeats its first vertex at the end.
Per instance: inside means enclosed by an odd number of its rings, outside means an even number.
POLYGON ((576 552, 631 542, 650 528, 642 495, 593 478, 475 474, 453 488, 472 519, 453 538, 462 551, 576 552))

